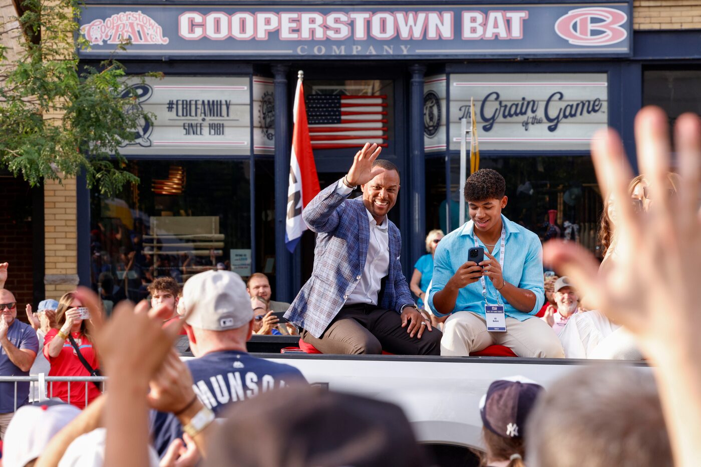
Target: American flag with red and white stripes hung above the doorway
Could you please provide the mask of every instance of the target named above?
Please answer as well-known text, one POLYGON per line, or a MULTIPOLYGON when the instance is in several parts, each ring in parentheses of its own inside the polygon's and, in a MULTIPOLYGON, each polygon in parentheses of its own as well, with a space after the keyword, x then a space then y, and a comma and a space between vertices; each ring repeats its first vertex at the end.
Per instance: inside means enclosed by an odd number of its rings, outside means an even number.
POLYGON ((325 95, 306 98, 313 149, 387 147, 387 96, 325 95))

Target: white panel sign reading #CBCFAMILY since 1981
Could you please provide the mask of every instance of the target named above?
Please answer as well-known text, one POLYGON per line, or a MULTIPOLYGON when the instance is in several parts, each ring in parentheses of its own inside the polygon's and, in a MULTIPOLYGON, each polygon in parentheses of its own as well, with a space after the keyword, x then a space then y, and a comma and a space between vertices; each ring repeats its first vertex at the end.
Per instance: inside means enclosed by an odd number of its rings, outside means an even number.
MULTIPOLYGON (((247 155, 251 152, 250 78, 177 76, 133 83, 133 108, 154 113, 135 129, 125 155, 247 155)), ((124 93, 125 97, 130 94, 124 93)))

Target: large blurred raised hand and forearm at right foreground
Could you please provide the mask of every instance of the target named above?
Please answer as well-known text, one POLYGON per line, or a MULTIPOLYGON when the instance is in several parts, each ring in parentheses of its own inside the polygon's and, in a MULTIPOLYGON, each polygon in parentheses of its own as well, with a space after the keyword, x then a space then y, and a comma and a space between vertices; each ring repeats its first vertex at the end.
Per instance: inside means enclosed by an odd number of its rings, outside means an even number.
MULTIPOLYGON (((638 161, 653 204, 647 214, 635 213, 627 202, 616 205, 620 241, 612 270, 597 274, 594 256, 571 243, 547 243, 543 258, 628 328, 656 365, 674 460, 690 467, 701 459, 701 120, 684 114, 674 133, 682 180, 673 195, 667 116, 656 107, 638 113, 638 161)), ((613 194, 627 200, 632 172, 613 130, 597 134, 592 159, 604 199, 613 194)))

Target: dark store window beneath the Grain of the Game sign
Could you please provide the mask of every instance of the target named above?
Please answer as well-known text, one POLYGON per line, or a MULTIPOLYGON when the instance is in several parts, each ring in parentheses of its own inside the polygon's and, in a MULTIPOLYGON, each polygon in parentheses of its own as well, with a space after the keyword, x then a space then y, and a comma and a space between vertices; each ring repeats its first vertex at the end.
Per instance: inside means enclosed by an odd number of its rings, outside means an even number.
MULTIPOLYGON (((570 239, 600 256, 597 230, 603 204, 590 157, 483 157, 479 168, 503 175, 509 198, 503 214, 511 221, 535 232, 543 242, 570 239)), ((450 190, 449 230, 454 230, 459 227, 462 195, 458 155, 451 158, 450 190)))

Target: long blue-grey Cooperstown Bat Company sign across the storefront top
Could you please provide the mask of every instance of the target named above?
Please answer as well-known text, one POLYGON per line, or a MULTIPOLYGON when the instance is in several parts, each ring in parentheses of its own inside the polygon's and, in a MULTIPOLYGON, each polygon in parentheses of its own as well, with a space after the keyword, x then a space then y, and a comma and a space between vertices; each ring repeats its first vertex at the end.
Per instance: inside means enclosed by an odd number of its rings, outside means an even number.
POLYGON ((309 58, 629 55, 630 1, 453 6, 90 4, 83 57, 309 58))

